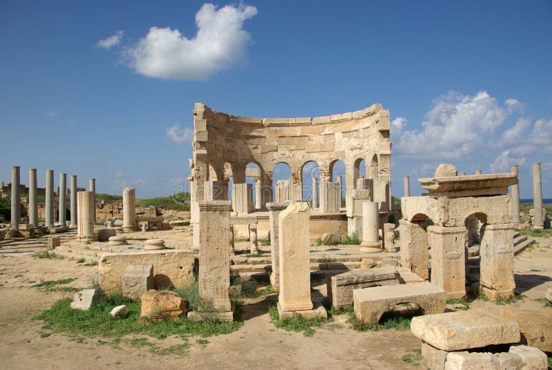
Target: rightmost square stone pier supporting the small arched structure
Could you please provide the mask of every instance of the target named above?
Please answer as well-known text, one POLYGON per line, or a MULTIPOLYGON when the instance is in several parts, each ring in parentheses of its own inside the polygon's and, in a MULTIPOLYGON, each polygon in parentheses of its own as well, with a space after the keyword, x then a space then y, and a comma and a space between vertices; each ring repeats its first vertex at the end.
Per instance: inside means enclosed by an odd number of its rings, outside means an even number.
POLYGON ((514 294, 513 227, 513 224, 487 225, 483 234, 480 289, 491 300, 510 298, 514 294))

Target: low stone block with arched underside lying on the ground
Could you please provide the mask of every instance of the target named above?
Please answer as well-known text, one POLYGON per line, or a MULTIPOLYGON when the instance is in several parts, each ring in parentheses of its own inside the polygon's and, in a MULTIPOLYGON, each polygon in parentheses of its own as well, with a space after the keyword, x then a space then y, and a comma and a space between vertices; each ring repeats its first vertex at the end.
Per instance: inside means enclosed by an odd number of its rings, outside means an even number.
POLYGON ((420 306, 426 315, 441 313, 445 309, 445 300, 444 291, 429 282, 353 290, 355 315, 364 322, 378 322, 395 304, 407 302, 420 306))

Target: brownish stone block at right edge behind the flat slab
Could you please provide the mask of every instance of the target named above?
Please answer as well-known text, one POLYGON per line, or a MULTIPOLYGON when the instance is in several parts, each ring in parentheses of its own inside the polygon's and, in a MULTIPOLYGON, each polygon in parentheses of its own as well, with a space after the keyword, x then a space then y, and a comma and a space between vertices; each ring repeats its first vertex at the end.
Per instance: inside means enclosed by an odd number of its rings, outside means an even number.
POLYGON ((552 310, 502 309, 498 314, 520 324, 521 343, 552 352, 552 310))

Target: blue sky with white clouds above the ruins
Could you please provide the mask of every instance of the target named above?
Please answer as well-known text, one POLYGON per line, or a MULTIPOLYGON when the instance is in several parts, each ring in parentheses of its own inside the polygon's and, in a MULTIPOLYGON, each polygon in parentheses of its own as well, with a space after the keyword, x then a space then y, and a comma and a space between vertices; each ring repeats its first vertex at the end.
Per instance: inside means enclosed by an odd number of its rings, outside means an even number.
POLYGON ((550 35, 551 1, 3 1, 0 180, 53 168, 167 195, 189 175, 195 101, 257 117, 380 103, 393 195, 449 162, 519 164, 532 197, 541 162, 552 197, 550 35))

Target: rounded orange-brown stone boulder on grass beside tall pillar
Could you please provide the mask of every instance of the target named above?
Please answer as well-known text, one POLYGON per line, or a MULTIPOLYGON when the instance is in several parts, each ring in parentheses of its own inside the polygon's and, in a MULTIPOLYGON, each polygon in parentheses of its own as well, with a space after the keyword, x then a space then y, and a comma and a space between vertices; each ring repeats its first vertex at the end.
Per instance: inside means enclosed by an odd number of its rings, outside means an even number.
POLYGON ((140 317, 152 321, 178 320, 188 309, 188 301, 173 291, 150 290, 141 298, 140 317))

